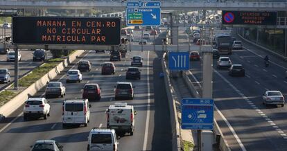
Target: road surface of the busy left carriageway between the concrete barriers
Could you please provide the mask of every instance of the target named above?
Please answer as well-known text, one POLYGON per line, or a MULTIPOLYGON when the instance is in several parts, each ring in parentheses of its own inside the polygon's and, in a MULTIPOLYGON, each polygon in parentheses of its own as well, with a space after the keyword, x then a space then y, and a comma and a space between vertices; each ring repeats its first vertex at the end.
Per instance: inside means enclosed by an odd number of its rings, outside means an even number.
MULTIPOLYGON (((153 51, 132 51, 124 60, 114 62, 115 75, 101 75, 103 62, 110 60, 110 55, 96 54, 94 51, 86 51, 80 59, 92 62, 92 71, 83 72, 81 83, 65 83, 65 73, 68 69, 75 68, 71 64, 64 69, 53 81, 64 83, 67 92, 65 98, 81 98, 81 88, 85 83, 98 83, 102 89, 100 101, 91 102, 91 118, 87 127, 62 128, 62 100, 52 98, 51 116, 47 120, 24 121, 22 107, 17 109, 11 117, 1 122, 0 150, 29 150, 39 139, 54 139, 64 145, 64 150, 85 150, 87 148, 87 136, 93 127, 105 127, 105 109, 115 102, 126 102, 134 105, 137 111, 135 116, 134 136, 123 136, 119 140, 119 150, 171 150, 171 127, 169 123, 168 104, 164 91, 164 80, 159 79, 162 67, 159 58, 153 51), (141 55, 143 67, 141 67, 141 80, 129 80, 135 86, 134 100, 114 100, 114 85, 118 81, 125 80, 125 69, 130 66, 130 57, 141 55), (150 94, 148 94, 150 92, 150 94), (12 123, 10 123, 12 121, 12 123), (3 127, 6 127, 3 129, 3 127), (164 145, 163 145, 164 144, 164 145)), ((37 95, 42 96, 44 89, 37 95)), ((36 96, 37 96, 36 95, 36 96)))

